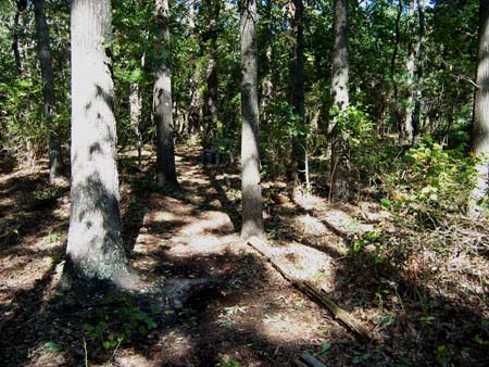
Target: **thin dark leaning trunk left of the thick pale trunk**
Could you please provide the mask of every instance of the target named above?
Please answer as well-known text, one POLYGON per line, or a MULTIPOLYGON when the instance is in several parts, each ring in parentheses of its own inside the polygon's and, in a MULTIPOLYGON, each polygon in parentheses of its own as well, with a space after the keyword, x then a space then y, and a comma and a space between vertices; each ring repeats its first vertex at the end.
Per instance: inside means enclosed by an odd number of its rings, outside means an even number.
POLYGON ((42 76, 42 97, 45 99, 45 117, 48 127, 49 180, 63 176, 64 165, 59 139, 59 127, 55 124, 57 100, 54 94, 54 76, 52 73, 51 49, 49 47, 49 29, 46 22, 45 0, 35 0, 34 15, 36 20, 37 49, 42 76))

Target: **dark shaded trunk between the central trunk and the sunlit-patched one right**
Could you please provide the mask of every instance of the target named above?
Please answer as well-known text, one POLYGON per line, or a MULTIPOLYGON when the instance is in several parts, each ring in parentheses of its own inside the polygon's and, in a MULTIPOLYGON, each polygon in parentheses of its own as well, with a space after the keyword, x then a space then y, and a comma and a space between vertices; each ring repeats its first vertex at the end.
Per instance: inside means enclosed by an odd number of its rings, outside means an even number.
MULTIPOLYGON (((292 55, 292 75, 291 93, 292 112, 298 118, 298 127, 302 128, 305 124, 304 106, 304 5, 302 0, 292 0, 294 5, 293 13, 293 34, 296 45, 292 55)), ((292 180, 293 188, 305 181, 305 137, 297 135, 292 137, 291 166, 289 178, 292 180)))

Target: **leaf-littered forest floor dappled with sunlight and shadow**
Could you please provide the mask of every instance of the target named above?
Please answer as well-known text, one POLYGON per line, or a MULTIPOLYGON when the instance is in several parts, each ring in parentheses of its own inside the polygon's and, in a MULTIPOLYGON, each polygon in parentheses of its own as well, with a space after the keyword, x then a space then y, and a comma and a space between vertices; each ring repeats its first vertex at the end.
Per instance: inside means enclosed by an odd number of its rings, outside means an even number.
POLYGON ((180 149, 170 191, 153 165, 121 157, 124 243, 147 283, 179 280, 187 298, 71 300, 57 288, 68 185, 48 186, 46 162, 1 173, 1 366, 296 366, 303 352, 327 366, 489 365, 488 226, 413 233, 366 191, 334 206, 263 182, 269 253, 368 327, 362 341, 240 240, 238 167, 180 149))

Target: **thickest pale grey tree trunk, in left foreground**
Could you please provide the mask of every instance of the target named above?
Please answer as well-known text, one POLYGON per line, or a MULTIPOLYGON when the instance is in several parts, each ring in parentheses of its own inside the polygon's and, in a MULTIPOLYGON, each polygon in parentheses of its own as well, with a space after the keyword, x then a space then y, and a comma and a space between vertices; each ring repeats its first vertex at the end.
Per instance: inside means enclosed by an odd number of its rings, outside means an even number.
POLYGON ((121 238, 110 0, 72 0, 72 210, 65 274, 77 291, 134 280, 121 238))

